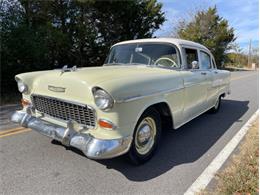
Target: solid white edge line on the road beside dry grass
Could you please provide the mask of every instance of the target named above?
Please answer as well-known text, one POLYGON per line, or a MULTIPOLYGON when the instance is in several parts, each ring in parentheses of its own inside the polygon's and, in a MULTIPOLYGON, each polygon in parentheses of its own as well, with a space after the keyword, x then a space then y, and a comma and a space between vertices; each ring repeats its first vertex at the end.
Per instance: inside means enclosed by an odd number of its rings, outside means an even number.
POLYGON ((202 174, 195 180, 195 182, 188 188, 184 195, 193 195, 199 193, 207 187, 210 181, 214 178, 216 172, 225 163, 230 154, 234 151, 242 138, 246 135, 248 129, 258 117, 258 110, 251 116, 251 118, 243 125, 243 127, 236 133, 236 135, 227 143, 227 145, 219 152, 202 174))

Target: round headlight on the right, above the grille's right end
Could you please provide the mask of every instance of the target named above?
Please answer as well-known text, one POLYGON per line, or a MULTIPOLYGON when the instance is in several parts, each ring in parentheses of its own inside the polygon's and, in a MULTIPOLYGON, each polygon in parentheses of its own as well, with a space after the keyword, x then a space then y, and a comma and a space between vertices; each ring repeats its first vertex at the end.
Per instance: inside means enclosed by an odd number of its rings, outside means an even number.
POLYGON ((93 91, 95 103, 101 110, 107 110, 113 107, 113 98, 104 90, 97 89, 93 91))

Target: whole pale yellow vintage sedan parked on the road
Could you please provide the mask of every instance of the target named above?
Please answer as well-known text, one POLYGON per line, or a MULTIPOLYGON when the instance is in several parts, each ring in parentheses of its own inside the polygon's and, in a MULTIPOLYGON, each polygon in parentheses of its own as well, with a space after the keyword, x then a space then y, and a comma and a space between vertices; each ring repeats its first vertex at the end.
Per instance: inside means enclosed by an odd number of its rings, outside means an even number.
POLYGON ((102 67, 64 66, 15 80, 23 109, 12 121, 91 159, 128 153, 135 164, 152 157, 163 130, 217 112, 230 92, 230 72, 217 69, 206 47, 173 38, 117 43, 102 67))

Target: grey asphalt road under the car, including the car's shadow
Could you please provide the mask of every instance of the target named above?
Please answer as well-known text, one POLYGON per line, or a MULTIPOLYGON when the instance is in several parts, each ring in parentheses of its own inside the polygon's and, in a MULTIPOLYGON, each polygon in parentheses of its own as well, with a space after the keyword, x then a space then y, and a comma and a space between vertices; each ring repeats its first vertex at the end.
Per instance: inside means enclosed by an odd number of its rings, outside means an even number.
POLYGON ((219 113, 164 131, 155 157, 139 167, 125 157, 89 160, 31 130, 6 135, 16 106, 1 107, 0 193, 183 194, 258 109, 257 72, 232 73, 231 90, 219 113))

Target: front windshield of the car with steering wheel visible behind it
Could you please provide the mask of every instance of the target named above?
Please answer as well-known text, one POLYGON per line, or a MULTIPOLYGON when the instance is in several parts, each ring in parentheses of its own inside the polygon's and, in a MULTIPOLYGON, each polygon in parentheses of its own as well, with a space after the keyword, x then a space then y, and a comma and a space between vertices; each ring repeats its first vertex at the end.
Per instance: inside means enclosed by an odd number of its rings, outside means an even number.
POLYGON ((135 43, 112 47, 106 65, 156 65, 179 68, 177 49, 163 43, 135 43))

